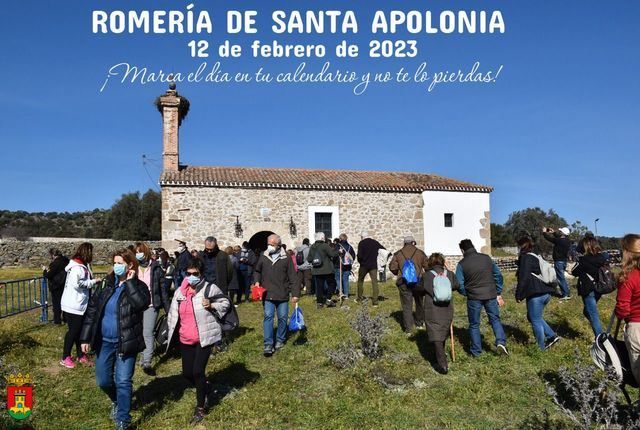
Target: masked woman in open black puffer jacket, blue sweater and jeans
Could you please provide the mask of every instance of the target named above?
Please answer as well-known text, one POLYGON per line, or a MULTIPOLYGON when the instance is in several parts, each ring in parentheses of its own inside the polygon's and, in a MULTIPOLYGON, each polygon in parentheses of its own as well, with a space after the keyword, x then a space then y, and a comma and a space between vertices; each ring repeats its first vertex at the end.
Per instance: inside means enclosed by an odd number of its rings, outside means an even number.
POLYGON ((113 254, 113 272, 105 287, 91 296, 80 333, 82 351, 97 352, 96 381, 111 399, 116 429, 126 429, 131 422, 136 356, 145 349, 142 319, 151 297, 137 273, 138 261, 130 250, 113 254))

